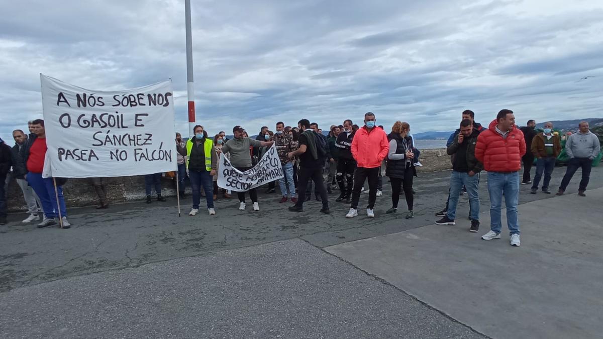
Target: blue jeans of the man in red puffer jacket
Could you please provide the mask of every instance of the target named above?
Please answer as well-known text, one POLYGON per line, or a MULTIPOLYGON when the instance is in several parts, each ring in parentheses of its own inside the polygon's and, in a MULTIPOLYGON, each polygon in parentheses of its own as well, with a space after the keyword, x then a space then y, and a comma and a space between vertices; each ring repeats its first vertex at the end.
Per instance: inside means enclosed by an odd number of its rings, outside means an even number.
MULTIPOLYGON (((488 193, 490 194, 490 229, 500 233, 500 207, 502 197, 507 206, 507 226, 510 234, 519 234, 519 172, 488 172, 488 193)), ((452 198, 452 195, 450 195, 452 198)))

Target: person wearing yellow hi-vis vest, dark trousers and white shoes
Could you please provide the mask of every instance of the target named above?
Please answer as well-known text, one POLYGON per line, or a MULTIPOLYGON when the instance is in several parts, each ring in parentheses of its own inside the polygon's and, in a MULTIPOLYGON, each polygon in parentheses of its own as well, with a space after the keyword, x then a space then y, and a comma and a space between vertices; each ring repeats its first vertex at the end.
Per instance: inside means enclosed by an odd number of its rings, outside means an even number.
POLYGON ((213 151, 213 141, 207 138, 207 131, 203 129, 203 126, 196 125, 193 131, 195 135, 186 142, 186 154, 188 156, 186 167, 189 170, 192 187, 192 209, 189 215, 196 215, 199 212, 201 185, 203 185, 205 191, 207 211, 209 215, 215 215, 212 177, 216 174, 218 157, 213 151))

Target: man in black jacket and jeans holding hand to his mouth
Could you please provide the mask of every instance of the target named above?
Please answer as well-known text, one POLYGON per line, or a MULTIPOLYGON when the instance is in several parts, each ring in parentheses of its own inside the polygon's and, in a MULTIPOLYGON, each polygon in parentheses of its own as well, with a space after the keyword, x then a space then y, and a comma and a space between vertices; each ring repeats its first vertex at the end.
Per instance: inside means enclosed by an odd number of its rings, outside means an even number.
POLYGON ((475 157, 475 145, 478 141, 479 131, 473 127, 469 119, 461 121, 461 131, 452 144, 446 149, 449 155, 454 154, 452 174, 450 175, 450 197, 448 211, 438 225, 454 225, 456 217, 456 203, 463 186, 469 192, 469 205, 471 214, 471 232, 479 230, 479 172, 484 168, 475 157))

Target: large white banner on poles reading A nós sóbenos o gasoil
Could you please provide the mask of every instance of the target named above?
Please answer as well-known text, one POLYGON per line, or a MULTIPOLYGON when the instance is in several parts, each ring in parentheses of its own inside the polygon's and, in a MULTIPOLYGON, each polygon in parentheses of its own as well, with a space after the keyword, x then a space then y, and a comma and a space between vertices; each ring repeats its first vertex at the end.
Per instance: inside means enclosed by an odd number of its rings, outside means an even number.
POLYGON ((40 80, 48 147, 45 177, 119 177, 176 170, 171 81, 107 92, 42 74, 40 80))

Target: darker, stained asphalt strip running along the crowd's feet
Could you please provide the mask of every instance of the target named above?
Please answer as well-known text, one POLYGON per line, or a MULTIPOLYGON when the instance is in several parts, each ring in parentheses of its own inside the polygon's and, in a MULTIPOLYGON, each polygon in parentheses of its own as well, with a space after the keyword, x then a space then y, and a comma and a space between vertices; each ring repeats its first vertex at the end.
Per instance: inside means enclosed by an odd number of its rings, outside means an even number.
MULTIPOLYGON (((551 189, 561 181, 565 168, 556 168, 551 189)), ((19 221, 27 215, 9 215, 9 223, 0 226, 0 291, 39 284, 63 277, 134 267, 150 262, 204 255, 227 249, 249 247, 265 242, 301 238, 323 248, 342 242, 400 232, 432 224, 435 212, 444 207, 448 192, 448 171, 420 174, 415 178, 415 218, 406 220, 406 203, 400 199, 399 212, 386 215, 391 207, 391 189, 384 178, 384 196, 377 198, 376 218, 366 217, 360 209, 352 220, 344 218, 349 209, 331 198, 332 213, 319 213, 321 203, 305 204, 301 213, 289 212, 289 203, 279 204, 280 195, 260 194, 259 212, 238 210, 238 202, 218 200, 215 217, 199 214, 189 217, 190 202, 183 201, 178 217, 176 201, 142 201, 111 206, 109 210, 69 209, 71 229, 37 229, 19 221)), ((603 168, 593 168, 590 188, 603 186, 603 168)), ((487 175, 480 184, 481 211, 489 209, 487 175)), ((575 192, 579 172, 567 192, 575 192)), ((360 205, 368 195, 362 194, 360 205)), ((529 185, 521 186, 520 203, 551 198, 529 194, 529 185)), ((200 211, 206 211, 201 209, 200 211)), ((469 201, 461 197, 457 218, 467 217, 469 201)), ((533 218, 537 216, 521 216, 533 218)))

